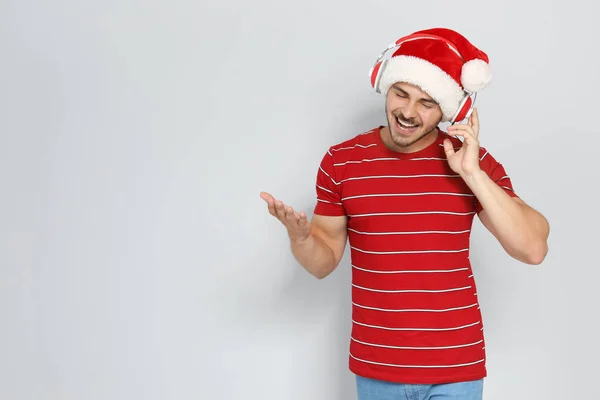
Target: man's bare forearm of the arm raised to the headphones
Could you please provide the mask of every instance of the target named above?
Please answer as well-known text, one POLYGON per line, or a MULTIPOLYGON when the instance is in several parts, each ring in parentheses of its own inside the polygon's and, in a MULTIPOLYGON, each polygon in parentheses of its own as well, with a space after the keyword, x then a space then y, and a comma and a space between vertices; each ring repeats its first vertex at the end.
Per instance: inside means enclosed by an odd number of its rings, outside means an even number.
POLYGON ((520 261, 539 264, 548 250, 546 219, 511 198, 484 171, 463 179, 484 208, 491 230, 502 247, 520 261))

